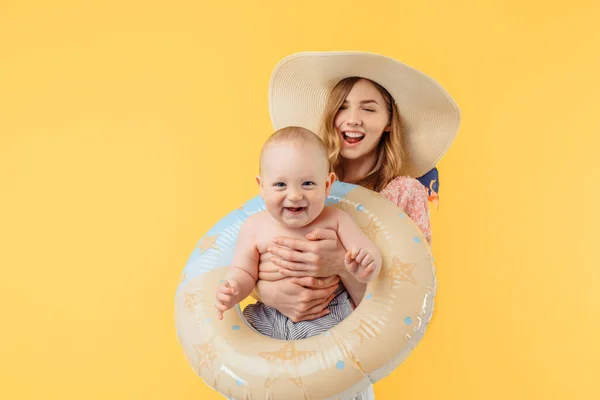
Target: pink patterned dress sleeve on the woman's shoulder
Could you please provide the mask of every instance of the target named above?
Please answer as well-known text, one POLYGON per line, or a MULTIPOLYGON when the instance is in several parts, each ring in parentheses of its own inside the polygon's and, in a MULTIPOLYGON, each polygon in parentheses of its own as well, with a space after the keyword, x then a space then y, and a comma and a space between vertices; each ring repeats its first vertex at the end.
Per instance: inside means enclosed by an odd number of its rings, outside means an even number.
POLYGON ((427 189, 418 180, 408 176, 399 176, 391 181, 381 194, 412 219, 421 229, 427 242, 431 244, 431 224, 429 222, 429 203, 427 189))

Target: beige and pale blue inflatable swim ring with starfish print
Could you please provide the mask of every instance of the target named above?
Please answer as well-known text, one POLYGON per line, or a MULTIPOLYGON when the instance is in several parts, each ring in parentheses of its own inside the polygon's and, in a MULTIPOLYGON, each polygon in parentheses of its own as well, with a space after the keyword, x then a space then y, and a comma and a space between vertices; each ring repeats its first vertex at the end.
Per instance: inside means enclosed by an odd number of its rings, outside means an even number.
POLYGON ((175 296, 178 340, 194 372, 223 396, 351 399, 392 372, 425 333, 436 278, 419 228, 394 203, 360 186, 335 182, 327 205, 352 216, 377 244, 383 265, 356 310, 321 335, 271 339, 246 322, 239 306, 217 318, 217 285, 242 223, 265 209, 260 197, 219 221, 193 250, 175 296))

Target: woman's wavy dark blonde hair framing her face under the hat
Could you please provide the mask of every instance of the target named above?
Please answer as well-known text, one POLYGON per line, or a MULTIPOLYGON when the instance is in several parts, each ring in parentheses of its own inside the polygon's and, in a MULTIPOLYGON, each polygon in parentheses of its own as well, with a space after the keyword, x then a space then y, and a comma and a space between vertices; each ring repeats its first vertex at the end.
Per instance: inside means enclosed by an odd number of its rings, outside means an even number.
POLYGON ((342 79, 331 89, 323 117, 321 119, 321 128, 319 136, 327 147, 329 164, 331 170, 335 172, 338 179, 344 180, 344 169, 342 156, 340 154, 342 143, 340 135, 335 127, 335 117, 342 106, 348 93, 352 90, 356 82, 364 79, 372 83, 381 96, 383 97, 388 111, 389 131, 386 130, 381 135, 377 148, 377 161, 373 168, 360 180, 354 183, 368 189, 380 192, 394 178, 402 173, 402 162, 404 160, 404 151, 402 149, 402 120, 400 113, 394 103, 392 95, 381 85, 371 81, 370 79, 361 77, 349 77, 342 79))

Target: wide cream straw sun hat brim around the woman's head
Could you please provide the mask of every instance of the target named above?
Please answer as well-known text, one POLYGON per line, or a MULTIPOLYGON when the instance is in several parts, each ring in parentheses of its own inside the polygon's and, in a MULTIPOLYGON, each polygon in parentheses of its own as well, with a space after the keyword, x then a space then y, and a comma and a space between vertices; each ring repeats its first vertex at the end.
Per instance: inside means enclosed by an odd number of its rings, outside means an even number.
POLYGON ((302 126, 316 133, 329 92, 350 76, 377 82, 394 98, 404 124, 403 173, 419 177, 435 167, 456 137, 460 109, 434 79, 379 54, 303 52, 285 57, 269 84, 275 130, 302 126))

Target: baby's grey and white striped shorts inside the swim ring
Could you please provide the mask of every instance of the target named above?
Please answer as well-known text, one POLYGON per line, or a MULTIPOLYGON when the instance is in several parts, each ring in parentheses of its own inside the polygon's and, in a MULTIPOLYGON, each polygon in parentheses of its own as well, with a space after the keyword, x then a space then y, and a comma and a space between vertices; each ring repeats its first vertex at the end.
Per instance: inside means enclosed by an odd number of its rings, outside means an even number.
POLYGON ((263 335, 280 340, 306 339, 326 332, 352 313, 350 295, 340 284, 335 297, 327 306, 329 314, 312 321, 293 322, 291 319, 264 303, 250 304, 244 309, 246 320, 263 335))

